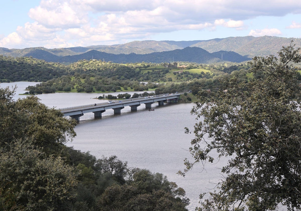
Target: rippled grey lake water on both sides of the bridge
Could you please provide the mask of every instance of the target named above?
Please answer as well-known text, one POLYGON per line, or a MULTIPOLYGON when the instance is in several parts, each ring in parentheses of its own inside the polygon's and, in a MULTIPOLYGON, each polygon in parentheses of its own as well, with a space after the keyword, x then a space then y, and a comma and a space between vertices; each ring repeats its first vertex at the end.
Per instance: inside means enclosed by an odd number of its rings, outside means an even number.
MULTIPOLYGON (((0 83, 0 87, 17 85, 14 99, 26 97, 18 95, 35 82, 0 83)), ((122 92, 133 94, 135 92, 122 92)), ((143 92, 136 92, 143 93, 143 92)), ((106 93, 117 95, 118 93, 106 93)), ((37 95, 40 102, 48 107, 66 108, 75 105, 105 102, 94 99, 102 96, 100 93, 52 93, 37 95)), ((149 169, 166 175, 169 181, 174 181, 183 187, 191 203, 187 207, 194 210, 198 206, 199 194, 210 191, 221 178, 220 168, 225 163, 221 160, 216 164, 207 163, 195 166, 184 177, 177 175, 185 168, 183 160, 191 158, 188 151, 193 134, 185 134, 185 127, 193 131, 195 116, 190 114, 193 103, 171 103, 158 106, 152 104, 154 111, 138 106, 136 112, 131 112, 127 106, 120 115, 114 115, 113 109, 106 110, 101 119, 94 119, 94 113, 80 117, 75 127, 76 137, 67 146, 82 152, 90 151, 97 158, 102 155, 116 155, 118 159, 127 161, 130 167, 149 169)), ((190 159, 192 160, 192 159, 190 159)))

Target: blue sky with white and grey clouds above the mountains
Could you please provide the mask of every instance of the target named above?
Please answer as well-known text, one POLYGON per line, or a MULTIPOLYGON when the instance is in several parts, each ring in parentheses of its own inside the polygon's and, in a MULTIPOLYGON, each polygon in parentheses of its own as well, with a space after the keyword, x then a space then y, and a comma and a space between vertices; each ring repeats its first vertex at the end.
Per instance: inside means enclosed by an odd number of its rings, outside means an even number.
POLYGON ((0 18, 0 47, 8 49, 301 38, 299 0, 5 0, 0 18))

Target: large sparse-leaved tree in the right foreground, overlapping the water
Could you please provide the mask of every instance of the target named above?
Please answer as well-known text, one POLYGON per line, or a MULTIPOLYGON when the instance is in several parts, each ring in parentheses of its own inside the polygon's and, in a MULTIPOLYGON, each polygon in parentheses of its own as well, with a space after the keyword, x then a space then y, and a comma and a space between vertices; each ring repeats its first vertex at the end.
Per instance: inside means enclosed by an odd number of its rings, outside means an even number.
POLYGON ((200 120, 191 141, 194 161, 186 159, 180 173, 196 163, 213 162, 213 152, 228 159, 218 189, 199 210, 275 210, 278 204, 301 208, 301 89, 292 68, 301 61, 299 50, 291 43, 278 58, 253 58, 253 73, 262 73, 257 80, 224 78, 216 93, 199 92, 191 111, 200 120))

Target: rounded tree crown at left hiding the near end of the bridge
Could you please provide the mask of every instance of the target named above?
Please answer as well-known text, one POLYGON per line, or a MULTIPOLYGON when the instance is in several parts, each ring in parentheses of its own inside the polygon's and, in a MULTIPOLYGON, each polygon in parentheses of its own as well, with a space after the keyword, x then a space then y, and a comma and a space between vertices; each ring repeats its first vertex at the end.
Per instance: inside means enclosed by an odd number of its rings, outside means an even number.
POLYGON ((35 96, 18 99, 14 103, 14 109, 16 115, 23 118, 20 123, 25 124, 20 125, 22 128, 19 127, 22 132, 18 134, 19 137, 28 138, 32 144, 43 147, 47 154, 60 153, 62 144, 76 135, 74 120, 64 118, 60 111, 48 108, 35 96))

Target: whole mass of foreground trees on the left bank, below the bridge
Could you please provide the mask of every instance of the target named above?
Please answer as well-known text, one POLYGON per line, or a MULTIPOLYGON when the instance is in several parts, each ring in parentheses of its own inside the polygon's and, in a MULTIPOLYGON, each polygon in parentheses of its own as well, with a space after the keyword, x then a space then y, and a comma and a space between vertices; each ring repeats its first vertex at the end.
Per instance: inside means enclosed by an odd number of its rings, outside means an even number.
POLYGON ((187 210, 185 191, 166 176, 65 146, 73 119, 13 95, 0 88, 0 210, 187 210))

